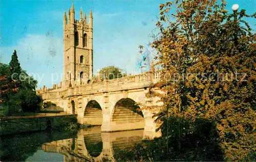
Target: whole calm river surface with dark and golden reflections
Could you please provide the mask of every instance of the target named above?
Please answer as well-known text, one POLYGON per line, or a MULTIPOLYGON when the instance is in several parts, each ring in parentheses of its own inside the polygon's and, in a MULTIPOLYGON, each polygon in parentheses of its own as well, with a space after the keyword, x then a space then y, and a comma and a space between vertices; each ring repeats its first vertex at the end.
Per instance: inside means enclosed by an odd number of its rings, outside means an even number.
POLYGON ((101 132, 100 126, 1 138, 0 161, 105 161, 141 143, 143 130, 101 132))

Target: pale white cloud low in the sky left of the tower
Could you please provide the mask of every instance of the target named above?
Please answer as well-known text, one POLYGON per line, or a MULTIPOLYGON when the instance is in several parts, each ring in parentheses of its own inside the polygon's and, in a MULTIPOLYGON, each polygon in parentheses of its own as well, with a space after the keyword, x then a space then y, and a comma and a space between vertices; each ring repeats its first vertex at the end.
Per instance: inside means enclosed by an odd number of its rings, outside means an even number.
MULTIPOLYGON (((35 74, 35 79, 42 78, 42 82, 38 83, 38 87, 46 84, 51 86, 51 73, 62 72, 63 45, 62 39, 53 37, 51 33, 46 35, 27 35, 17 41, 14 46, 1 47, 2 60, 8 64, 11 55, 17 51, 20 66, 29 74, 35 74)), ((59 79, 60 81, 60 79, 59 79)), ((57 84, 57 83, 56 83, 57 84)))

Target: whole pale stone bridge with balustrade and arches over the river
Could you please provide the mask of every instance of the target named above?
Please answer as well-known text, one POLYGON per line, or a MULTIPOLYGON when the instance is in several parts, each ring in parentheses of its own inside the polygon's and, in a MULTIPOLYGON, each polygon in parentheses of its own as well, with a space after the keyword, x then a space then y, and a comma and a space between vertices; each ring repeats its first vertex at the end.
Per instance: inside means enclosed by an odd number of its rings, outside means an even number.
MULTIPOLYGON (((101 125, 101 131, 145 129, 144 137, 160 136, 154 113, 145 106, 161 105, 158 97, 148 98, 149 87, 160 78, 160 70, 103 80, 69 88, 54 86, 38 90, 44 102, 77 114, 79 123, 101 125)), ((159 91, 159 90, 156 90, 159 91)))

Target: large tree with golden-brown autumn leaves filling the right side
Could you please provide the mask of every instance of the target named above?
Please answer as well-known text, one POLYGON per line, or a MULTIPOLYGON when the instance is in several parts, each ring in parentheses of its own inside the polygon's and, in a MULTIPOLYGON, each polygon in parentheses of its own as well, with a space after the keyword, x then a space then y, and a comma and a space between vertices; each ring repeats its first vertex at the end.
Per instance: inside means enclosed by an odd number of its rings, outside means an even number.
POLYGON ((249 16, 245 10, 227 14, 225 6, 225 1, 210 0, 160 4, 160 33, 152 46, 163 73, 153 87, 166 94, 151 89, 148 95, 157 95, 164 103, 159 120, 168 114, 214 122, 224 158, 238 160, 253 156, 256 137, 255 34, 242 20, 255 14, 249 16), (176 10, 170 13, 174 5, 176 10), (228 79, 220 80, 220 73, 228 74, 228 79), (238 79, 230 78, 237 73, 238 79))

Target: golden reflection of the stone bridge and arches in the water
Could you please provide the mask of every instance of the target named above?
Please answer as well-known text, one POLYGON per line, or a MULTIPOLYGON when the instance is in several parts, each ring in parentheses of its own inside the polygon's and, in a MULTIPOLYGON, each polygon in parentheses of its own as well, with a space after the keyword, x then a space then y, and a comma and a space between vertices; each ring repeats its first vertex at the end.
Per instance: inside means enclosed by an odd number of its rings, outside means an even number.
POLYGON ((102 161, 114 159, 118 149, 132 148, 141 143, 143 129, 100 132, 100 127, 79 130, 76 139, 65 139, 43 144, 39 149, 63 154, 64 161, 102 161))

